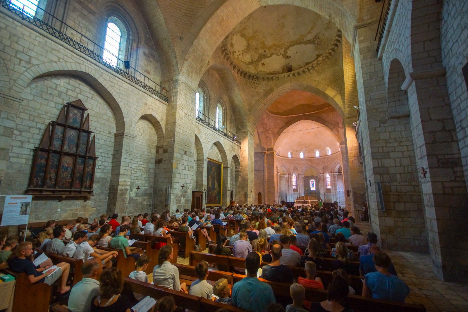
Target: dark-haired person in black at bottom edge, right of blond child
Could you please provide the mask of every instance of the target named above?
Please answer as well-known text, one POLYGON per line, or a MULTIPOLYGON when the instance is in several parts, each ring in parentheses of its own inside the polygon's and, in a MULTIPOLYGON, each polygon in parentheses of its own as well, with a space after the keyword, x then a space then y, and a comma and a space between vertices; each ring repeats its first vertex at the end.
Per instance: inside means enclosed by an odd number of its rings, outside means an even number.
POLYGON ((348 283, 341 276, 334 277, 327 292, 327 300, 314 302, 310 311, 316 312, 351 312, 344 307, 344 302, 348 297, 348 283))

